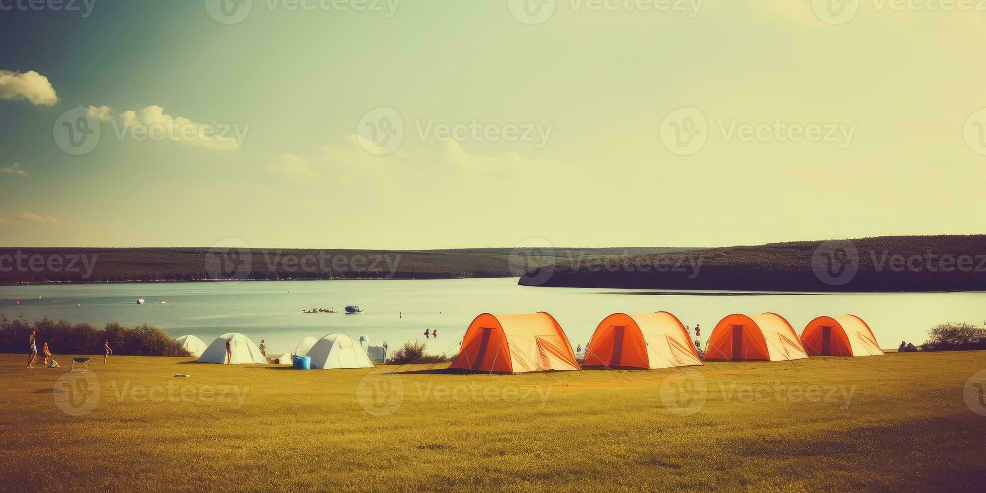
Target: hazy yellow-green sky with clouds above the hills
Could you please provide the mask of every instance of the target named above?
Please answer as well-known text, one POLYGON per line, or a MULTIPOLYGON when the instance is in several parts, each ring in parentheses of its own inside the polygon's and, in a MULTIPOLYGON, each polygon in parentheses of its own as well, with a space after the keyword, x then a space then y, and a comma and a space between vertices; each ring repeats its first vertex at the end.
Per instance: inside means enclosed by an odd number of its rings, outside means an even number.
POLYGON ((0 0, 0 246, 982 234, 977 3, 0 0))

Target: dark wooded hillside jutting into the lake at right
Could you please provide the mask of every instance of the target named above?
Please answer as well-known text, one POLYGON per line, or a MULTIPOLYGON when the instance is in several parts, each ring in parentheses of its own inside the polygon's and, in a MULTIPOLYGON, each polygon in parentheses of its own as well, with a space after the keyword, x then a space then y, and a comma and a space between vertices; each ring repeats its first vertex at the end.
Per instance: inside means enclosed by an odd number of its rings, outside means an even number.
POLYGON ((986 291, 986 235, 603 255, 532 268, 521 284, 722 291, 986 291))

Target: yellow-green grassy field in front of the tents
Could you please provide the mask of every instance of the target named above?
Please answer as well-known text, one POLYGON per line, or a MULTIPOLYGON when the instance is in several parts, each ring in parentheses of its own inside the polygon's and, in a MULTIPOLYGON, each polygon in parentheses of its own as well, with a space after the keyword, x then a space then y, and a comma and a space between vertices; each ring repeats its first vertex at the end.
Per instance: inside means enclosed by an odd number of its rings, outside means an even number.
POLYGON ((72 374, 68 357, 56 370, 27 370, 25 358, 0 355, 0 484, 11 491, 986 482, 986 417, 962 397, 984 352, 522 376, 149 357, 94 358, 72 374))

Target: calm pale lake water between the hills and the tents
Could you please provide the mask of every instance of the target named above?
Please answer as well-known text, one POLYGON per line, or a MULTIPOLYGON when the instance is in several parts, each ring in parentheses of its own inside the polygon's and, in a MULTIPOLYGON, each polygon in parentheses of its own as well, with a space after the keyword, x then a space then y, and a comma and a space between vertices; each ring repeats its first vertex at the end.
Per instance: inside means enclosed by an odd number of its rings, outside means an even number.
MULTIPOLYGON (((443 352, 458 342, 466 326, 482 313, 548 312, 572 344, 585 344, 599 321, 622 312, 668 311, 687 325, 700 323, 708 337, 730 314, 775 312, 795 330, 813 317, 855 314, 866 319, 880 345, 901 340, 920 343, 936 323, 986 318, 986 293, 696 296, 648 291, 531 288, 517 279, 408 281, 280 281, 244 283, 125 283, 93 285, 0 286, 0 314, 43 316, 102 327, 151 323, 177 337, 194 334, 206 343, 226 332, 243 332, 254 342, 266 339, 268 353, 294 351, 305 336, 332 332, 354 339, 368 335, 372 345, 391 349, 407 340, 424 340, 424 329, 438 329, 429 351, 443 352), (41 297, 38 299, 37 297, 41 297), (143 298, 145 305, 137 305, 143 298), (16 306, 15 302, 21 305, 16 306), (167 305, 159 305, 167 301, 167 305), (76 305, 82 305, 77 308, 76 305), (303 314, 302 310, 359 305, 366 313, 303 314), (398 317, 398 314, 403 317, 398 317)), ((704 340, 703 340, 704 343, 704 340)))

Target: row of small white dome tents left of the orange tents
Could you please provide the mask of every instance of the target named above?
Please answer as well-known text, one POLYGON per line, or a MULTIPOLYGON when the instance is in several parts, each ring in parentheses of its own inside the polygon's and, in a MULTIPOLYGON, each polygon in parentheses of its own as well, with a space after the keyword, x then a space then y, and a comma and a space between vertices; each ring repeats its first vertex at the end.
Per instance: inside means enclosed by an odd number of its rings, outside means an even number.
MULTIPOLYGON (((195 347, 201 345, 202 349, 198 354, 199 363, 215 363, 219 365, 266 365, 267 358, 260 353, 260 349, 249 337, 241 333, 223 334, 212 341, 207 347, 201 339, 194 335, 178 337, 183 347, 195 347), (227 355, 227 342, 230 347, 230 354, 227 355), (227 358, 227 356, 229 356, 227 358)), ((373 368, 373 362, 363 351, 363 347, 353 341, 346 334, 328 334, 321 339, 306 337, 299 344, 297 352, 300 356, 312 358, 312 368, 318 370, 331 370, 339 368, 373 368)), ((281 363, 290 361, 289 355, 276 358, 281 363)))

